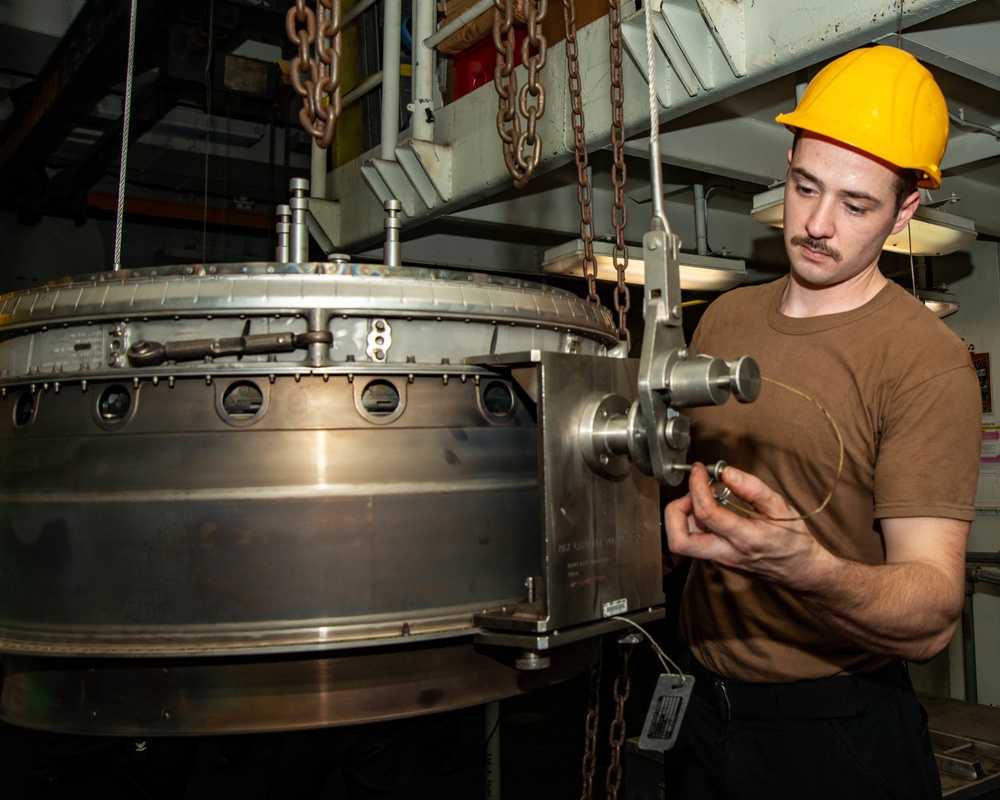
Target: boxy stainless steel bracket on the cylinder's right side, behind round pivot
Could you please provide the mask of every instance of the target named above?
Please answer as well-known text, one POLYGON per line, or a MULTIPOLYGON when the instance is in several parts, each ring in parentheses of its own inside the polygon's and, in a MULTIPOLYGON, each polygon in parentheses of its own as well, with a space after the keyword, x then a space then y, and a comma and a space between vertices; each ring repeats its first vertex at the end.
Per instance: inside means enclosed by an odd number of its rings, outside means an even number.
POLYGON ((620 460, 594 471, 582 450, 593 409, 635 402, 636 361, 549 351, 470 361, 509 371, 536 404, 542 531, 533 602, 478 614, 476 625, 544 636, 662 605, 659 486, 620 460))

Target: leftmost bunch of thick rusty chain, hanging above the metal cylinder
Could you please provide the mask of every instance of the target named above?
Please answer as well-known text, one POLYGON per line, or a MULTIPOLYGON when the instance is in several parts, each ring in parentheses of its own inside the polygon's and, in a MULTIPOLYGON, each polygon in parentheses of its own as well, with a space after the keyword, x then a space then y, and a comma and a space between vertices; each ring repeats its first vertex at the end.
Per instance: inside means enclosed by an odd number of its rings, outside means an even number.
POLYGON ((322 148, 333 141, 340 116, 340 2, 295 0, 285 15, 285 32, 299 48, 289 68, 292 87, 302 98, 299 122, 322 148), (303 80, 303 75, 308 75, 303 80))

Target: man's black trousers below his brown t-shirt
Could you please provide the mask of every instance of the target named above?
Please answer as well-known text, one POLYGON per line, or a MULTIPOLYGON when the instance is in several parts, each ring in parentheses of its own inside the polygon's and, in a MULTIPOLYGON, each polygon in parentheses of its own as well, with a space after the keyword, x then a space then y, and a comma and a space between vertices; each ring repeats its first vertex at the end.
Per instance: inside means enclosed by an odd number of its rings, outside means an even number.
POLYGON ((677 744, 666 754, 665 797, 938 800, 927 715, 902 668, 900 676, 860 713, 800 719, 794 708, 783 710, 781 687, 770 718, 726 714, 710 676, 699 675, 677 744))

